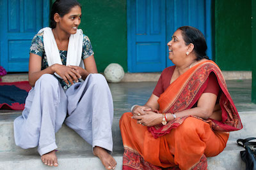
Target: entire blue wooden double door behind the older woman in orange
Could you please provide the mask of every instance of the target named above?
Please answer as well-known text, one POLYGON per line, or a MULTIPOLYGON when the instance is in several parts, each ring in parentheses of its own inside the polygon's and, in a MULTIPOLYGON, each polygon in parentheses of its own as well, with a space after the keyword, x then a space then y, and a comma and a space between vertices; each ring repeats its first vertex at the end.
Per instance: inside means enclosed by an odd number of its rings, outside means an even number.
POLYGON ((128 71, 155 72, 173 66, 167 43, 183 25, 203 32, 211 58, 211 0, 127 0, 128 71))

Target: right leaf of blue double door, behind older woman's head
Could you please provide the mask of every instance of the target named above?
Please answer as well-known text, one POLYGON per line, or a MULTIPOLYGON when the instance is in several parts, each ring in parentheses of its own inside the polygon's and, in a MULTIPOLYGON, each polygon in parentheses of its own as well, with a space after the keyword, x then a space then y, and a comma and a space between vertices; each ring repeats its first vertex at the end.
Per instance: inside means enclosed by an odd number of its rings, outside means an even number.
MULTIPOLYGON (((166 42, 172 39, 177 28, 184 25, 202 31, 208 46, 207 55, 211 59, 211 0, 166 0, 166 42)), ((173 66, 168 55, 166 46, 167 66, 173 66)))

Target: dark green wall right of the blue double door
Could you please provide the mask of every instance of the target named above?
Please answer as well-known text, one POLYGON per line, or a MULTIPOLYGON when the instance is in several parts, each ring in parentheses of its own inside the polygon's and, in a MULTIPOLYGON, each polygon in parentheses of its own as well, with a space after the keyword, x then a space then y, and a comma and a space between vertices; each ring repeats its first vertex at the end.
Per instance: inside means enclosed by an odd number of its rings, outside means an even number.
POLYGON ((215 0, 215 61, 222 70, 252 70, 251 0, 215 0))

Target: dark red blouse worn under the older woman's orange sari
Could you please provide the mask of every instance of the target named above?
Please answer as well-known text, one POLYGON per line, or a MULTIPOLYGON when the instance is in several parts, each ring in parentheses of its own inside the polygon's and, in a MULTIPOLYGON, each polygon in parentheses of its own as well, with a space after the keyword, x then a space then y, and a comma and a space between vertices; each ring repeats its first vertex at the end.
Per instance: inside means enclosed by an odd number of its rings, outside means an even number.
MULTIPOLYGON (((174 69, 175 69, 175 66, 171 66, 163 70, 157 82, 157 85, 153 91, 154 95, 156 95, 157 97, 160 97, 160 95, 169 87, 174 69)), ((217 81, 215 74, 211 73, 209 76, 208 85, 203 93, 212 93, 218 96, 219 92, 220 92, 220 85, 217 81)))

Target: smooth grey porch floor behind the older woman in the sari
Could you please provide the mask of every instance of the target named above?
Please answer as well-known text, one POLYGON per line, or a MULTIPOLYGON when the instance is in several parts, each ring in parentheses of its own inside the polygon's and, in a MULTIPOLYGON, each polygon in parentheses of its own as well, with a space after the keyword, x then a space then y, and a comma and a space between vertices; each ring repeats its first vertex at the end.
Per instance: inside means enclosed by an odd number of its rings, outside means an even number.
MULTIPOLYGON (((120 117, 129 111, 134 104, 145 104, 156 83, 156 81, 109 83, 115 117, 120 117)), ((251 102, 252 80, 227 80, 227 86, 238 111, 256 111, 256 104, 251 102)))

